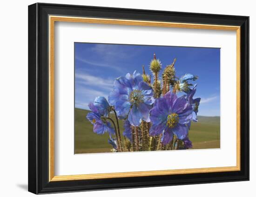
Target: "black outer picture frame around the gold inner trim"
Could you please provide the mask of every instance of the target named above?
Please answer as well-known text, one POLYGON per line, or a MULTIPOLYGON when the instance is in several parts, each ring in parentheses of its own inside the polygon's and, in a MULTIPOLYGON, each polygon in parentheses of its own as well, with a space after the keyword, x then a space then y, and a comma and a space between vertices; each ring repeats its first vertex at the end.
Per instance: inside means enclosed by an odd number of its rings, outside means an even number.
POLYGON ((28 191, 35 194, 249 180, 249 17, 35 3, 28 6, 28 191), (241 27, 241 170, 49 182, 48 15, 241 27))

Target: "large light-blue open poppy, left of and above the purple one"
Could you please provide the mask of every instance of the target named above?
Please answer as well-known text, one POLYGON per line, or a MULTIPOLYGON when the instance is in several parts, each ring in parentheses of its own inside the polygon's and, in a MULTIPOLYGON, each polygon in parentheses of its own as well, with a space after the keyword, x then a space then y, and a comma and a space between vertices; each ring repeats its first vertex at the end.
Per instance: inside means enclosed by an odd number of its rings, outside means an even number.
POLYGON ((139 126, 141 120, 149 122, 149 110, 155 102, 153 89, 143 82, 140 73, 134 71, 125 77, 121 76, 114 82, 114 89, 108 96, 108 101, 115 107, 119 118, 128 116, 133 126, 139 126))

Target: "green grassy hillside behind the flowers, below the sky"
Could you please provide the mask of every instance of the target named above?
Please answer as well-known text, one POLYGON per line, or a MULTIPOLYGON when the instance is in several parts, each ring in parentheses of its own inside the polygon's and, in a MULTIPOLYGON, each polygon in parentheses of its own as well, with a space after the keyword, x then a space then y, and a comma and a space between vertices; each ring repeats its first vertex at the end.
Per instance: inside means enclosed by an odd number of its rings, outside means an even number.
MULTIPOLYGON (((112 146, 108 144, 108 134, 93 132, 93 125, 86 119, 88 110, 75 108, 75 153, 107 153, 112 146)), ((198 116, 198 122, 192 122, 189 138, 193 148, 220 147, 220 117, 198 116)), ((122 121, 120 130, 123 131, 122 121)))

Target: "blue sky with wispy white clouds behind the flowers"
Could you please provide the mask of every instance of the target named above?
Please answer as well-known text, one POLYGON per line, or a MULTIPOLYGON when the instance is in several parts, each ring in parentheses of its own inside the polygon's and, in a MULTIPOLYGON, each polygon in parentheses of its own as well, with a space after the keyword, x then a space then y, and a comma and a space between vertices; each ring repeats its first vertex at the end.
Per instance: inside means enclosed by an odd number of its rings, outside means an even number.
MULTIPOLYGON (((198 115, 220 115, 220 49, 128 44, 74 43, 75 107, 88 109, 96 96, 108 98, 115 78, 138 70, 150 74, 149 63, 156 54, 162 68, 176 58, 176 76, 198 76, 194 98, 201 97, 198 115)), ((162 69, 163 70, 163 69, 162 69)))

